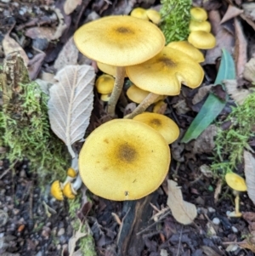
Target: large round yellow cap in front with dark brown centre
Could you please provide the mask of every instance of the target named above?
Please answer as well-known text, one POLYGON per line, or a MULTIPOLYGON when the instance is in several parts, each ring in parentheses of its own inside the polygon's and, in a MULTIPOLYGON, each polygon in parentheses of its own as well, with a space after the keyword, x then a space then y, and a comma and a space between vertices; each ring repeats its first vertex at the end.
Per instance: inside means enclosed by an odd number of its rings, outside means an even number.
POLYGON ((155 191, 169 163, 170 149, 161 134, 132 119, 115 119, 96 128, 79 155, 80 175, 88 189, 116 201, 155 191))

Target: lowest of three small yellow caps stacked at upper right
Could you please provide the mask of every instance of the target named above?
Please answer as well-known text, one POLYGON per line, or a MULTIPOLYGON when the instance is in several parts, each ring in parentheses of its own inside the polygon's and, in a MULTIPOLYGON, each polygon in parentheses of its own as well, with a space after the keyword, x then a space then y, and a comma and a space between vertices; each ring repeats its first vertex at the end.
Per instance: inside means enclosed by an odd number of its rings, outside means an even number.
POLYGON ((195 48, 201 49, 213 48, 216 45, 216 38, 206 31, 191 31, 188 41, 195 48))

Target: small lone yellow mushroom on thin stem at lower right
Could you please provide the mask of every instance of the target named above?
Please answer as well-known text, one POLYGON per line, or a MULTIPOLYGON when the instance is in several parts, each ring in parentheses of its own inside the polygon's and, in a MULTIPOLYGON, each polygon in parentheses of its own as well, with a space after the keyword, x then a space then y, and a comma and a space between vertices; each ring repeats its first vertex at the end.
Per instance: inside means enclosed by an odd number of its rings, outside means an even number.
POLYGON ((246 181, 241 176, 235 173, 226 174, 225 179, 226 179, 227 185, 229 185, 229 187, 234 190, 234 194, 235 194, 235 212, 230 213, 229 217, 241 217, 241 213, 239 210, 239 204, 240 204, 239 192, 247 191, 246 181))

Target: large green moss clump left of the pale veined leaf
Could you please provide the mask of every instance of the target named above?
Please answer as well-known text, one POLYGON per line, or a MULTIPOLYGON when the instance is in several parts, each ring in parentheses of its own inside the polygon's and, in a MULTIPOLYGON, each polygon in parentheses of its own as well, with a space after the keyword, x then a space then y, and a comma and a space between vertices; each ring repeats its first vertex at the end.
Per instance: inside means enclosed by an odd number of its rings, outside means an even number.
MULTIPOLYGON (((37 82, 29 82, 27 76, 20 76, 25 77, 18 83, 20 93, 10 93, 0 109, 0 146, 8 149, 3 157, 8 158, 10 165, 28 159, 31 171, 37 172, 43 185, 65 177, 70 156, 65 144, 50 129, 48 95, 37 82)), ((12 88, 5 84, 3 81, 3 91, 11 92, 12 88)))

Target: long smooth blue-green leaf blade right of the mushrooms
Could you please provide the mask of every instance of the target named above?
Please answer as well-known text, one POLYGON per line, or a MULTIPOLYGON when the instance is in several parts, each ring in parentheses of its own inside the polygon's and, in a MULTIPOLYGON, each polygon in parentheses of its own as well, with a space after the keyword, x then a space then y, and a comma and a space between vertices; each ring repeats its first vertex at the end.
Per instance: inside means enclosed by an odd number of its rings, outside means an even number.
MULTIPOLYGON (((214 82, 215 85, 222 84, 224 79, 235 79, 235 62, 228 51, 225 49, 222 51, 223 55, 219 65, 218 75, 214 82)), ((216 95, 210 93, 206 102, 201 107, 201 111, 199 111, 193 122, 191 122, 181 142, 188 143, 191 139, 196 139, 218 117, 218 114, 224 109, 227 100, 220 100, 216 95)))

